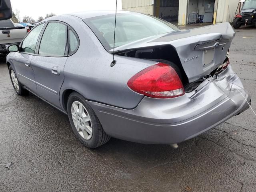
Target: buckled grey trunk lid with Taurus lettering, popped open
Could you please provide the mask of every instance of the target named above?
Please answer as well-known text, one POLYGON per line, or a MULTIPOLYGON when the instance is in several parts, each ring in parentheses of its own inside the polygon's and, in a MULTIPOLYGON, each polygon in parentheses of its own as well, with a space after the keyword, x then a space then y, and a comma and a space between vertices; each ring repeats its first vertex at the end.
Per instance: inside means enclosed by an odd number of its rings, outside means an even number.
POLYGON ((119 46, 115 51, 169 44, 178 53, 188 81, 194 82, 223 63, 234 36, 232 26, 226 22, 153 36, 119 46))

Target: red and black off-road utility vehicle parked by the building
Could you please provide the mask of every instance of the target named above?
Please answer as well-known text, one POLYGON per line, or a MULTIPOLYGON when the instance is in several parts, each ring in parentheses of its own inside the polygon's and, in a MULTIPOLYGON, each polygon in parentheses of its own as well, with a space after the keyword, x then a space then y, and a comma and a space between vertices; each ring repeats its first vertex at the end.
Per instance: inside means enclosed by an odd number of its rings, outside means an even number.
POLYGON ((233 27, 237 29, 242 24, 254 24, 256 27, 256 0, 245 0, 240 13, 236 14, 233 27))

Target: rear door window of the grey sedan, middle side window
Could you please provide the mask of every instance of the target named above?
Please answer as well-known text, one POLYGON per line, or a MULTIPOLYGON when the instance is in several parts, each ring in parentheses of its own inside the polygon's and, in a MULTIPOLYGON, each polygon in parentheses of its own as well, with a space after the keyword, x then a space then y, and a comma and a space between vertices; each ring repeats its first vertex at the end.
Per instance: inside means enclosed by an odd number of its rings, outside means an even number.
POLYGON ((66 25, 50 22, 39 47, 40 55, 64 56, 66 55, 66 25))

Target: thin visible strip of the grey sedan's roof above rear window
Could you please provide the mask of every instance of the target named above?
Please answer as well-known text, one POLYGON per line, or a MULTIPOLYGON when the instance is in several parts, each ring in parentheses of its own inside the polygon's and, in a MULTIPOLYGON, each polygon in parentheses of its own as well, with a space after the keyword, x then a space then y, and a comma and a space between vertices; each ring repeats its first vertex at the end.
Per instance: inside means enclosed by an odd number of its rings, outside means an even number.
MULTIPOLYGON (((97 16, 104 16, 104 15, 110 15, 110 14, 115 14, 116 10, 108 10, 108 11, 84 11, 84 12, 78 12, 78 13, 72 13, 68 15, 76 16, 81 19, 87 19, 87 18, 92 18, 92 17, 97 17, 97 16)), ((130 13, 129 11, 117 11, 117 13, 130 13)))

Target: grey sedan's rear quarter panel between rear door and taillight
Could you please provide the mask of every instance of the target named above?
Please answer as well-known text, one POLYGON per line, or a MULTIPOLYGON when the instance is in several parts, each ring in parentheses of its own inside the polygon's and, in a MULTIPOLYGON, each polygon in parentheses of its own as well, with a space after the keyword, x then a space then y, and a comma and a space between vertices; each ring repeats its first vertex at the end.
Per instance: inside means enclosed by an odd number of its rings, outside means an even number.
MULTIPOLYGON (((106 52, 90 28, 74 16, 61 17, 77 32, 80 46, 75 54, 68 57, 64 69, 65 80, 60 90, 60 103, 66 90, 72 89, 88 100, 118 106, 135 108, 143 96, 131 91, 128 80, 144 68, 157 62, 116 56, 117 64, 110 67, 113 55, 106 52), (74 81, 75 80, 75 81, 74 81)), ((56 18, 58 19, 58 18, 56 18)), ((62 106, 65 109, 65 106, 62 106)))

